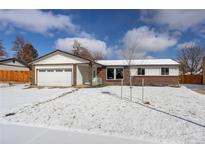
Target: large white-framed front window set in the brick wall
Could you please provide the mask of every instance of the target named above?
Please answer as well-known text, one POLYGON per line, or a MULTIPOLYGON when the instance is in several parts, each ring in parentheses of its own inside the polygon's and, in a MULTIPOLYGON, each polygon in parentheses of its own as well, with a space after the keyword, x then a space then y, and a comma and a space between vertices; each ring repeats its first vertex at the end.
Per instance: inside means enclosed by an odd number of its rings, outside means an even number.
POLYGON ((107 68, 107 80, 120 80, 123 79, 123 68, 107 68))

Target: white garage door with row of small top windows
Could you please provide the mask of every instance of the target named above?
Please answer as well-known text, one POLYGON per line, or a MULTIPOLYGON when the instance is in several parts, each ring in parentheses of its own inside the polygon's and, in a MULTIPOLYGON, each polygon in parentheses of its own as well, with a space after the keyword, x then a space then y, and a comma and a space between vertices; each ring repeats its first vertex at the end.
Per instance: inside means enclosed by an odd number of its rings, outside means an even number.
POLYGON ((71 86, 72 69, 39 69, 38 86, 71 86))

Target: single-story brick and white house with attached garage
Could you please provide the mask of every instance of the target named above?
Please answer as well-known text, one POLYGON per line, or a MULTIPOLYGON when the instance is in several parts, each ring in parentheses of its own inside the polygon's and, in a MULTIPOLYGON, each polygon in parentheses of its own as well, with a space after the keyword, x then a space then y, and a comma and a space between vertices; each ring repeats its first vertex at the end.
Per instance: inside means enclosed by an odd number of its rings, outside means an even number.
MULTIPOLYGON (((132 84, 146 85, 178 84, 179 63, 171 59, 133 60, 132 84)), ((32 81, 37 86, 78 85, 124 85, 129 84, 126 60, 91 61, 69 52, 56 50, 32 62, 32 81)))

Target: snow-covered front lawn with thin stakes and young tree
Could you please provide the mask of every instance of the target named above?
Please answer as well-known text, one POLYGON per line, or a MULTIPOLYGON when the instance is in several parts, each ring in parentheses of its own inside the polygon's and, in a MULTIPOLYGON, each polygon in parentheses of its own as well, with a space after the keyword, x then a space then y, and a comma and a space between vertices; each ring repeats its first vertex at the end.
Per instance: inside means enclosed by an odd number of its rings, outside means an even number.
MULTIPOLYGON (((0 121, 94 134, 140 139, 152 143, 205 143, 205 95, 182 86, 82 88, 56 100, 30 105, 0 121)), ((17 110, 18 111, 18 110, 17 110)))

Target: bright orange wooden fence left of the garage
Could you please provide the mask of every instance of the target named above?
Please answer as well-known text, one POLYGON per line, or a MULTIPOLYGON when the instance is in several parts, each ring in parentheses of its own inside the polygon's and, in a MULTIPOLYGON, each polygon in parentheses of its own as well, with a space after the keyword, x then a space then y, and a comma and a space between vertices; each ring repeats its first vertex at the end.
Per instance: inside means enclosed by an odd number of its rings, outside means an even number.
POLYGON ((2 82, 31 82, 31 71, 0 70, 2 82))

